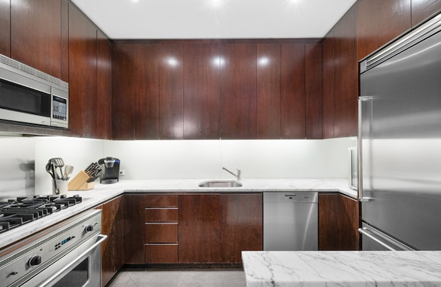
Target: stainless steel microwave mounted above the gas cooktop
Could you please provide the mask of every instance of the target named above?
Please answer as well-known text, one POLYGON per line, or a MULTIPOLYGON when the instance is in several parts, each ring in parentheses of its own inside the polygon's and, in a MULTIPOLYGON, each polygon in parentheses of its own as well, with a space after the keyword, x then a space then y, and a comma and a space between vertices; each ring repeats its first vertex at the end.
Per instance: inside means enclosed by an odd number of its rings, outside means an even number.
POLYGON ((69 127, 69 85, 0 54, 0 119, 69 127))

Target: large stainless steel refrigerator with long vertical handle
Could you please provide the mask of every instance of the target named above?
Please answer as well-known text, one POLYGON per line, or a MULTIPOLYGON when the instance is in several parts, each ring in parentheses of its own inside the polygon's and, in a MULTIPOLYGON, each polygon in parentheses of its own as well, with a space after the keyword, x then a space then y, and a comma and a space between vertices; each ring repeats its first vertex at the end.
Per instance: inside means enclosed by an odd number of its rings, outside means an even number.
POLYGON ((441 14, 360 61, 363 250, 441 250, 441 14))

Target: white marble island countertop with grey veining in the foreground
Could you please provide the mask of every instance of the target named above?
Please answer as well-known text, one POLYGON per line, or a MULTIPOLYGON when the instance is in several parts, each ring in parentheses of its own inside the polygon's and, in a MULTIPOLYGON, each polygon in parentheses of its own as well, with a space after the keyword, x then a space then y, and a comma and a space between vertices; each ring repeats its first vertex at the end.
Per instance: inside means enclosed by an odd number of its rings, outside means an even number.
POLYGON ((441 251, 243 251, 247 287, 441 286, 441 251))

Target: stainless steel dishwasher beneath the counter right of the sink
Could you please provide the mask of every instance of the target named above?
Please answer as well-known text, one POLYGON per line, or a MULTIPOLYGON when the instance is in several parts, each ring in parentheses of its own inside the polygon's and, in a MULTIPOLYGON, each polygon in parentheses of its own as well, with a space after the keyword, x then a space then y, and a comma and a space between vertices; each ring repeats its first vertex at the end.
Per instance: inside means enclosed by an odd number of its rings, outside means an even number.
POLYGON ((263 250, 318 249, 318 193, 263 193, 263 250))

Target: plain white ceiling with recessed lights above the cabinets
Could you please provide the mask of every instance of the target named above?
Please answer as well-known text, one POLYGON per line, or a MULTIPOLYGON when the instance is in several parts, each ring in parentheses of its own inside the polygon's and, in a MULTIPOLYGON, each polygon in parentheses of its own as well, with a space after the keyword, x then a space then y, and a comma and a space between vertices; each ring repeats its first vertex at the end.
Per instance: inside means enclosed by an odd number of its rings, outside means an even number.
POLYGON ((356 0, 72 0, 110 39, 322 38, 356 0))

